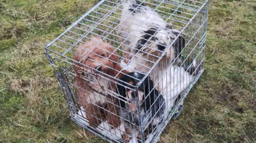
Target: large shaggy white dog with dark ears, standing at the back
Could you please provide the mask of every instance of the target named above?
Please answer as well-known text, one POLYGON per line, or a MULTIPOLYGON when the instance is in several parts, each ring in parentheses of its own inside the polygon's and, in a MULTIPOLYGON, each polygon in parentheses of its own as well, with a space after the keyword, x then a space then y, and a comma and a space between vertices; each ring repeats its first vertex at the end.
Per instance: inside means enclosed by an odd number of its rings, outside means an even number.
MULTIPOLYGON (((179 35, 180 31, 172 29, 158 13, 139 1, 130 0, 123 4, 118 29, 118 35, 127 38, 123 48, 127 70, 147 73, 162 57, 151 72, 153 81, 159 81, 175 58, 180 58, 181 50, 185 47, 185 39, 179 35), (177 40, 173 43, 175 38, 177 40)), ((161 87, 158 88, 161 90, 161 87)))

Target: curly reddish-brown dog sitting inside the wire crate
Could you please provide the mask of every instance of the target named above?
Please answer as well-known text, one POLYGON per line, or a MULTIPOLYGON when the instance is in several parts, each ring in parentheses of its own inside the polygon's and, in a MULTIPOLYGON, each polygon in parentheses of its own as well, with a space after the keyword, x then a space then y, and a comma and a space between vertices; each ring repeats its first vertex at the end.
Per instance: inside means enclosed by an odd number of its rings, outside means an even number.
POLYGON ((74 57, 77 103, 83 106, 91 126, 107 121, 111 128, 116 128, 120 123, 119 107, 111 92, 116 92, 113 77, 119 78, 122 68, 115 49, 106 41, 100 41, 101 38, 93 37, 79 46, 74 57))

